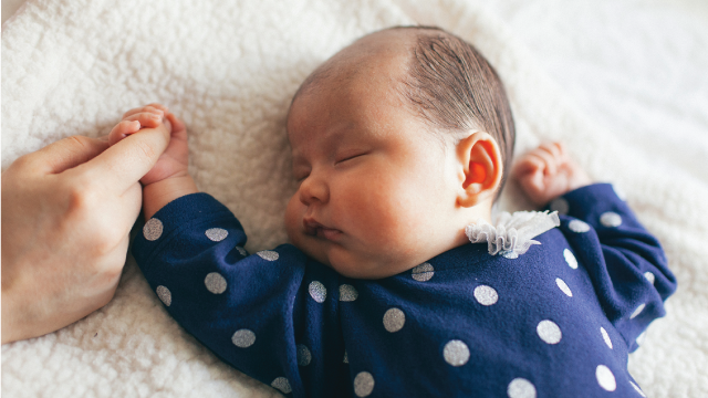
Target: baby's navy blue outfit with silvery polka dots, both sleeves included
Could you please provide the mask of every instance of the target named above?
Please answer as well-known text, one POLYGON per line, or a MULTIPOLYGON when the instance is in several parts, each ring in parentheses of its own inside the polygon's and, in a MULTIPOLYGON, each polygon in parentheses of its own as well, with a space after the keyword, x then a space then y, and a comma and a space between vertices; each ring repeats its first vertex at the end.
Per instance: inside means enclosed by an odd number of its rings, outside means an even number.
POLYGON ((344 277, 246 233, 195 193, 133 253, 171 316, 237 369, 292 397, 642 397, 637 337, 676 289, 659 242, 613 187, 555 199, 561 226, 517 259, 469 243, 391 277, 344 277))

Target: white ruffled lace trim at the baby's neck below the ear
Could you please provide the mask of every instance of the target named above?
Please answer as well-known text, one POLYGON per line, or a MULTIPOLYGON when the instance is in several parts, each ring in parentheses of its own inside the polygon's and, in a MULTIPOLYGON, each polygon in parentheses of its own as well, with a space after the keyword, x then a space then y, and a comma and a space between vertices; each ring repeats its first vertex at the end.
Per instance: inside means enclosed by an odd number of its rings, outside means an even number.
POLYGON ((560 224, 558 211, 517 211, 513 214, 503 211, 497 217, 497 227, 479 219, 465 227, 465 233, 472 243, 487 242, 489 254, 516 259, 532 244, 541 244, 531 238, 560 224))

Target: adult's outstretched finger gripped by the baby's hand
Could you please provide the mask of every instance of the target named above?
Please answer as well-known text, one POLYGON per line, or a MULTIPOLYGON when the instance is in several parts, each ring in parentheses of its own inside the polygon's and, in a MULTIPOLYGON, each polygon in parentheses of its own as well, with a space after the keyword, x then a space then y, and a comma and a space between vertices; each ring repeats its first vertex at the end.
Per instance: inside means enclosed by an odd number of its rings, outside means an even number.
POLYGON ((74 170, 123 195, 155 166, 168 144, 169 130, 165 125, 143 128, 74 170))

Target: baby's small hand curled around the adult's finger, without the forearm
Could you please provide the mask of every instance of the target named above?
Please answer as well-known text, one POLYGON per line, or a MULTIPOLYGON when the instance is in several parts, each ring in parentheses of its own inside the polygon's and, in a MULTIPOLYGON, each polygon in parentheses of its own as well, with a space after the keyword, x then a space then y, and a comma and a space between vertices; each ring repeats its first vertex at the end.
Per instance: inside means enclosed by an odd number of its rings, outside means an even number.
POLYGON ((166 128, 167 132, 170 132, 170 140, 167 149, 157 159, 153 169, 140 179, 140 182, 147 186, 168 178, 187 176, 189 157, 187 129, 180 119, 160 104, 149 104, 126 112, 123 115, 123 121, 111 130, 108 143, 114 145, 131 134, 145 128, 166 128))

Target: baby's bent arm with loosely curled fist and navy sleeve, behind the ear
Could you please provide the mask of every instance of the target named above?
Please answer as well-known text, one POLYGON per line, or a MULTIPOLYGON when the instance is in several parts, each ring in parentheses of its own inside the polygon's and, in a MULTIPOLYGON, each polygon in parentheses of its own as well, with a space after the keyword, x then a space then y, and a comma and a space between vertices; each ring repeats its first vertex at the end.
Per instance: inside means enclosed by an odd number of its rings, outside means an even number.
POLYGON ((586 269, 607 320, 636 349, 637 336, 665 314, 664 301, 676 290, 659 242, 611 185, 590 185, 560 144, 522 156, 513 176, 537 205, 553 199, 572 249, 563 253, 566 262, 586 269))

